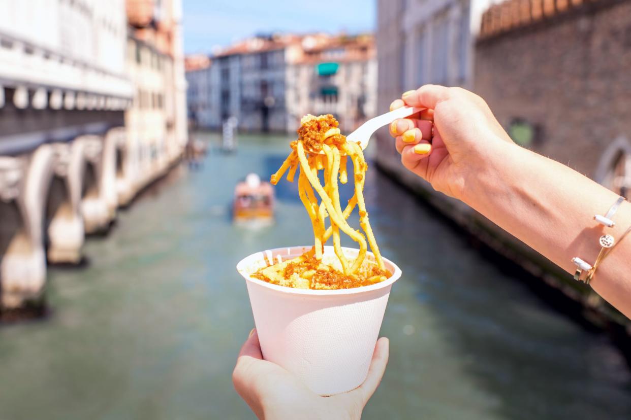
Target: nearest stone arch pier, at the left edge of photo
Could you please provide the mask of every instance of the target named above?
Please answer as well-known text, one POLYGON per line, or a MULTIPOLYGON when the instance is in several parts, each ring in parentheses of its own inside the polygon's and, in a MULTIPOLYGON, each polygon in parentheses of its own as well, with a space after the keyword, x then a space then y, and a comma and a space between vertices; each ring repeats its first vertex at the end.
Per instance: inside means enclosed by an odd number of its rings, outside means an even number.
MULTIPOLYGON (((25 159, 25 158, 22 158, 25 159)), ((44 197, 52 175, 52 148, 41 145, 25 159, 23 178, 15 200, 4 207, 9 220, 15 222, 6 232, 4 253, 0 261, 2 307, 13 309, 28 300, 41 297, 46 278, 44 253, 44 197)), ((3 232, 4 236, 4 232, 3 232)))

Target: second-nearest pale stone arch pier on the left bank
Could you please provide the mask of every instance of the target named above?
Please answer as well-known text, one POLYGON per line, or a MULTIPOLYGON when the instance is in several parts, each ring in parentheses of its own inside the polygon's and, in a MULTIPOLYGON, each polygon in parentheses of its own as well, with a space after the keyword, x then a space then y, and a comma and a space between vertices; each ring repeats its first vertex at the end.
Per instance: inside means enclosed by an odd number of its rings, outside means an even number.
POLYGON ((85 231, 81 190, 86 159, 81 142, 52 144, 54 171, 46 200, 45 232, 51 263, 78 264, 85 231))

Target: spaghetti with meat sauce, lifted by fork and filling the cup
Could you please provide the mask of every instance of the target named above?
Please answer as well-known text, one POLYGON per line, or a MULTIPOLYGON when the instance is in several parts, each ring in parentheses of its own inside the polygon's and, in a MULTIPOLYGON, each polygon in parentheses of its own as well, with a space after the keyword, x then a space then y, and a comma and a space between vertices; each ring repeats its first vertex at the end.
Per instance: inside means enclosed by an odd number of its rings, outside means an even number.
POLYGON ((286 287, 331 290, 372 285, 392 275, 384 266, 363 198, 368 165, 362 147, 347 141, 338 125, 331 114, 305 115, 300 120, 298 140, 290 144, 292 152, 271 176, 271 183, 275 185, 288 172, 286 179, 293 182, 300 170, 298 195, 311 219, 314 246, 296 258, 268 261, 267 267, 252 274, 255 278, 286 287), (346 163, 349 157, 353 165, 355 193, 342 210, 338 178, 343 184, 348 182, 346 163), (320 182, 319 171, 324 172, 324 185, 320 182), (364 233, 346 221, 355 207, 358 207, 360 227, 364 233), (328 227, 325 225, 327 217, 330 222, 328 227), (348 258, 343 252, 340 231, 357 242, 359 252, 355 258, 348 258), (331 237, 336 258, 323 259, 324 244, 331 237), (374 255, 372 259, 366 258, 368 246, 374 255))

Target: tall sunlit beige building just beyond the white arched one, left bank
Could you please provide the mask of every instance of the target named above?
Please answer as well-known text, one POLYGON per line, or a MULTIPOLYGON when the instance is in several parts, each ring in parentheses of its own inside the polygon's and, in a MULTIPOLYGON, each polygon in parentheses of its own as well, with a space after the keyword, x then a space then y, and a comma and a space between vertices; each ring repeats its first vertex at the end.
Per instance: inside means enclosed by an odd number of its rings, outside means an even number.
POLYGON ((126 64, 134 91, 117 183, 121 203, 182 153, 188 132, 180 1, 127 0, 127 19, 126 64))

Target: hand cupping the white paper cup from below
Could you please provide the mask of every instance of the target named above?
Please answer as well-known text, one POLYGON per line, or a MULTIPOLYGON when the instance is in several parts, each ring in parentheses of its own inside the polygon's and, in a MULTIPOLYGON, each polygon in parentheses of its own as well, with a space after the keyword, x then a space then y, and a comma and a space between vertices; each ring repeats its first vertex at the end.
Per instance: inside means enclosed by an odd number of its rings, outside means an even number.
POLYGON ((241 348, 232 382, 259 419, 359 419, 379 386, 388 363, 387 338, 380 338, 366 380, 345 394, 321 397, 285 369, 263 360, 252 330, 241 348))

